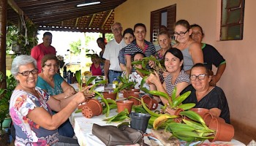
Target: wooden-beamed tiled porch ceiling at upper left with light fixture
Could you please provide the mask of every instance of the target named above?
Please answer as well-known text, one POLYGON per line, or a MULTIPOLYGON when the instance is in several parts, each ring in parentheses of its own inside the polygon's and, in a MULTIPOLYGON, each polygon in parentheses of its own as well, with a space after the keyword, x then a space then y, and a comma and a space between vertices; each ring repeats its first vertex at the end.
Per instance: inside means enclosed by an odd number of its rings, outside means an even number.
POLYGON ((20 8, 20 14, 23 12, 39 30, 109 33, 113 9, 127 0, 98 0, 100 4, 76 7, 85 1, 95 0, 8 0, 7 20, 17 24, 20 8))

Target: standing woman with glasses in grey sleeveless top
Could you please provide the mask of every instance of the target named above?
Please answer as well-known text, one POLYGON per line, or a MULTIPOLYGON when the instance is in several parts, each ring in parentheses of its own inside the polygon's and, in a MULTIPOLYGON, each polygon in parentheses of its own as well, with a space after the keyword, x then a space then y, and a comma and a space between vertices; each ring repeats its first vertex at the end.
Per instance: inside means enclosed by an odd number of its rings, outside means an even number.
POLYGON ((203 63, 203 52, 200 44, 193 41, 189 36, 192 34, 192 30, 187 20, 178 20, 174 28, 174 37, 176 45, 173 47, 181 50, 184 56, 184 71, 188 74, 194 64, 203 63))

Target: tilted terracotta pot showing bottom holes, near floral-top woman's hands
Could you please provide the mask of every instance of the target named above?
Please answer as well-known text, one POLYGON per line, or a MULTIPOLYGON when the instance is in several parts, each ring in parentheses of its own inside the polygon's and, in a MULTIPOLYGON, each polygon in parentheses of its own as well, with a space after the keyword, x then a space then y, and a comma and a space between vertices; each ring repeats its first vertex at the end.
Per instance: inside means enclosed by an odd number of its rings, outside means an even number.
POLYGON ((86 118, 92 118, 102 114, 102 104, 96 99, 90 99, 83 107, 82 113, 86 118))

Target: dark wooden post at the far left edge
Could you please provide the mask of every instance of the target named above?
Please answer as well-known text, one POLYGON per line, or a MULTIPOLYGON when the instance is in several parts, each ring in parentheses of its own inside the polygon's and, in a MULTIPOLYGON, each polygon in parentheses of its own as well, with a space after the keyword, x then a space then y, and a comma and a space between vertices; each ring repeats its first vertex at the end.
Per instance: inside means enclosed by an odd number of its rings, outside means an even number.
POLYGON ((7 88, 6 82, 6 34, 7 34, 7 0, 0 0, 0 72, 4 80, 0 82, 1 88, 7 88))

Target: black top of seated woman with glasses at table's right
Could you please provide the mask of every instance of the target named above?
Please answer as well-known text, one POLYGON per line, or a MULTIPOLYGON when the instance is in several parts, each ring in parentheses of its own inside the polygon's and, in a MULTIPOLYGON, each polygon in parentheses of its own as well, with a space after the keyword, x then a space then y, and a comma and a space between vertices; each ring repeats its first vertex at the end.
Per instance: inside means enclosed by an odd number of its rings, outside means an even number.
POLYGON ((219 110, 222 110, 219 117, 223 118, 226 123, 230 123, 230 110, 222 88, 215 86, 206 96, 203 97, 203 99, 198 102, 195 94, 195 88, 193 88, 192 85, 187 86, 187 88, 185 88, 181 94, 187 91, 191 91, 191 93, 189 97, 182 102, 183 104, 195 103, 195 108, 206 108, 208 110, 218 108, 219 110))

